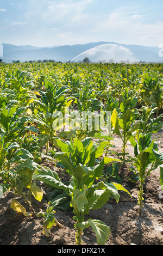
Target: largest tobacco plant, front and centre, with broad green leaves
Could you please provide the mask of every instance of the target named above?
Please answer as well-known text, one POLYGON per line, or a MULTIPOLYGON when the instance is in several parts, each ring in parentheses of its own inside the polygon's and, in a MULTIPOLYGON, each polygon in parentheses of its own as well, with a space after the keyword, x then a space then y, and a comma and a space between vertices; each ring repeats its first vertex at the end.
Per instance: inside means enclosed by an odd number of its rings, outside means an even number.
MULTIPOLYGON (((71 176, 71 182, 67 186, 58 178, 57 173, 51 170, 40 172, 36 170, 33 174, 33 179, 39 179, 56 188, 61 188, 70 197, 70 206, 73 209, 76 220, 76 242, 77 245, 82 245, 83 229, 92 227, 97 235, 98 245, 104 245, 110 235, 110 227, 102 221, 84 220, 84 216, 89 214, 90 210, 101 208, 110 198, 114 196, 118 202, 120 195, 118 189, 126 191, 121 185, 108 184, 100 179, 104 165, 112 161, 120 161, 111 157, 104 157, 100 163, 96 164, 96 159, 101 157, 108 143, 102 142, 96 145, 87 137, 83 141, 74 138, 74 141, 62 141, 60 138, 55 138, 55 145, 61 149, 61 153, 54 155, 55 159, 59 160, 66 172, 71 176)), ((128 192, 128 191, 127 191, 128 192)))

